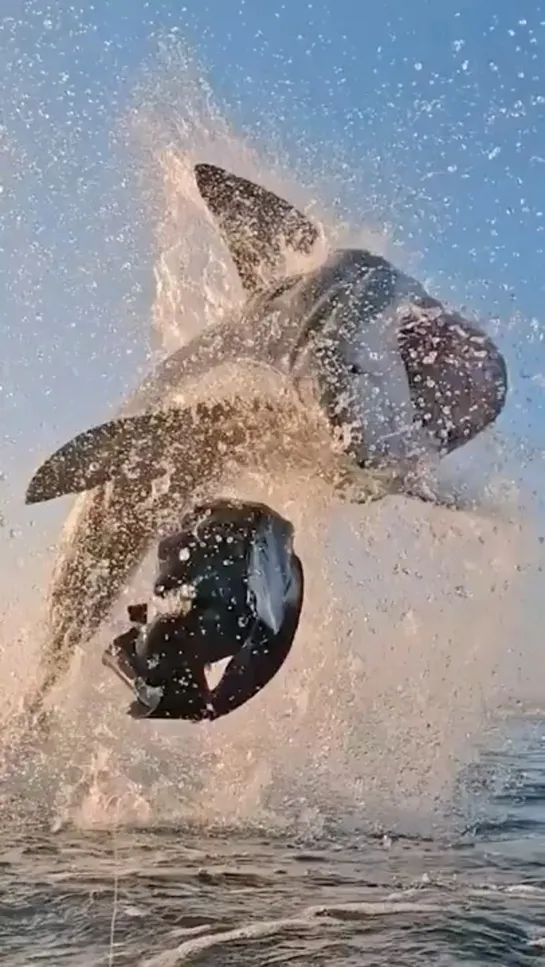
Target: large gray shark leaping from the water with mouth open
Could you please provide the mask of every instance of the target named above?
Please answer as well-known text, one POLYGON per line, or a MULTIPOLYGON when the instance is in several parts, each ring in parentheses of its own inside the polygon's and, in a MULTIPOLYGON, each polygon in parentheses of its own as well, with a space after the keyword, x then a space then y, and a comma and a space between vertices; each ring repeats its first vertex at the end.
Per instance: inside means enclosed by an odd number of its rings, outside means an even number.
POLYGON ((210 165, 195 171, 248 298, 236 319, 159 365, 120 419, 71 441, 31 481, 27 503, 83 493, 53 576, 33 714, 107 617, 162 515, 220 480, 226 454, 251 462, 260 440, 285 448, 297 404, 316 407, 351 466, 385 472, 398 491, 504 406, 503 357, 477 326, 365 250, 333 251, 319 268, 286 276, 286 252, 309 254, 317 229, 244 179, 210 165), (273 376, 288 392, 277 402, 255 389, 195 402, 203 378, 226 364, 273 376), (165 458, 175 472, 157 488, 165 458))

